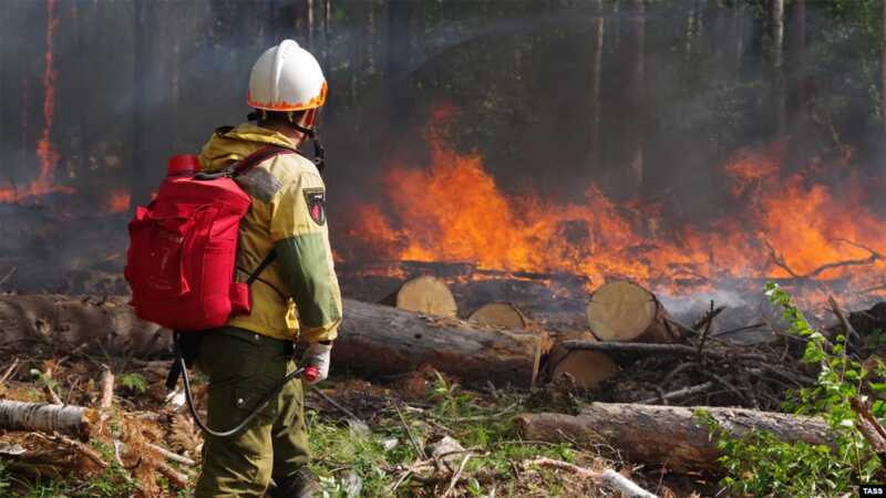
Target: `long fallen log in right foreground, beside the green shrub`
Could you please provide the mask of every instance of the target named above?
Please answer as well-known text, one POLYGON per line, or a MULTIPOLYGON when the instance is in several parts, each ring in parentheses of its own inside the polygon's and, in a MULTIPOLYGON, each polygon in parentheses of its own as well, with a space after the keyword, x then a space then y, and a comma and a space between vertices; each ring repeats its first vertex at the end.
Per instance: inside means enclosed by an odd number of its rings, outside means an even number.
MULTIPOLYGON (((593 403, 579 415, 522 414, 514 418, 526 439, 609 445, 629 461, 663 465, 677 471, 714 470, 720 452, 693 407, 593 403)), ((830 445, 827 424, 802 417, 744 408, 704 407, 722 427, 741 436, 766 430, 784 442, 830 445)))

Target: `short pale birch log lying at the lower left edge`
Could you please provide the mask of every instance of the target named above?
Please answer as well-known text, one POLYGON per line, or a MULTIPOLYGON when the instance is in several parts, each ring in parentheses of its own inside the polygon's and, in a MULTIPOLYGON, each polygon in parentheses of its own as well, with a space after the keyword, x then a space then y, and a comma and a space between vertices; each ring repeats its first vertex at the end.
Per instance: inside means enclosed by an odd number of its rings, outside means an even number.
POLYGON ((61 433, 87 440, 94 411, 82 406, 0 400, 0 429, 61 433))

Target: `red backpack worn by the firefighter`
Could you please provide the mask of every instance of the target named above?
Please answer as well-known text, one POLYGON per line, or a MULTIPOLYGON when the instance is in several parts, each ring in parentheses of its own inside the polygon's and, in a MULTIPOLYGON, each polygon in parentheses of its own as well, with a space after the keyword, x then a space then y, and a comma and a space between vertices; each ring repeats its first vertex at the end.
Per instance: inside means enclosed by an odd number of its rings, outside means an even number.
POLYGON ((124 276, 142 319, 176 331, 224 325, 251 310, 249 284, 274 260, 268 255, 246 283, 234 279, 240 219, 251 199, 234 181, 259 163, 292 151, 262 148, 217 174, 194 175, 194 156, 175 156, 156 198, 130 221, 124 276))

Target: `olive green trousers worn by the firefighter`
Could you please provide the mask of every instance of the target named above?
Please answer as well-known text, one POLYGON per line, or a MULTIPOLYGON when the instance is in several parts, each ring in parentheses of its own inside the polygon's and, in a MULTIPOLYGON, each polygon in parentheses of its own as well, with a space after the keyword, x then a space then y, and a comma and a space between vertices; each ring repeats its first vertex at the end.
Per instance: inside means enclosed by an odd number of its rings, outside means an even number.
MULTIPOLYGON (((227 430, 296 369, 291 343, 223 328, 206 334, 197 367, 209 376, 208 425, 227 430)), ((196 498, 261 497, 271 477, 284 483, 309 459, 301 381, 292 380, 244 429, 206 436, 196 498)))

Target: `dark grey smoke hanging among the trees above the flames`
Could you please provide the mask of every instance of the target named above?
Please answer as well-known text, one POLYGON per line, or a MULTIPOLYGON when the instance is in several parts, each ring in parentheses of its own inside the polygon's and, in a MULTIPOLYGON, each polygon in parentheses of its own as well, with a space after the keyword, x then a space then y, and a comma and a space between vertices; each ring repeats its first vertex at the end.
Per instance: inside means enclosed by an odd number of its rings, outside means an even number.
MULTIPOLYGON (((41 226, 58 226, 47 232, 92 219, 117 250, 125 216, 96 214, 119 190, 146 201, 168 156, 194 153, 216 126, 244 121, 248 71, 282 38, 310 48, 330 81, 323 139, 337 246, 349 243, 337 222, 358 204, 387 207, 387 170, 427 165, 427 124, 442 106, 454 112, 446 139, 476 152, 505 193, 566 205, 596 186, 616 203, 655 206, 673 227, 741 208, 722 166, 776 141, 787 144, 782 175, 813 159, 835 186, 851 170, 882 173, 868 55, 852 49, 864 37, 854 21, 810 6, 801 69, 789 11, 790 115, 779 132, 764 27, 750 9, 647 2, 640 14, 626 3, 333 0, 313 2, 311 29, 299 2, 58 0, 49 139, 60 154, 54 183, 74 194, 29 206, 40 206, 41 226)), ((44 1, 0 6, 0 188, 23 188, 39 172, 47 12, 44 1)), ((886 211, 880 199, 869 203, 886 211)), ((21 209, 3 208, 0 222, 10 227, 21 209)), ((3 247, 18 253, 34 240, 10 232, 3 247)), ((63 259, 85 260, 89 243, 79 240, 63 259)), ((738 299, 723 292, 718 302, 738 299)))

